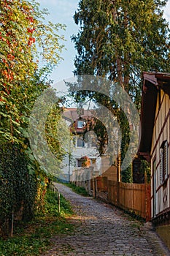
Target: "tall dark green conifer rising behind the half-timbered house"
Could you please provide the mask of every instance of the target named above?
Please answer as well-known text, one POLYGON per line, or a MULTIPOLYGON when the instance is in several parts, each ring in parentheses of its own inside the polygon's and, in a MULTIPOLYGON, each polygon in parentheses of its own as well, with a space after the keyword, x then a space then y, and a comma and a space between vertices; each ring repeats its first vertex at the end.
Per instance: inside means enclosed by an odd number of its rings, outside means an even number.
MULTIPOLYGON (((119 83, 140 110, 142 72, 169 72, 169 27, 162 11, 166 2, 81 0, 74 15, 75 23, 80 24, 80 31, 72 37, 77 49, 74 74, 100 75, 119 83)), ((117 115, 123 134, 123 161, 129 143, 125 115, 110 99, 97 93, 90 97, 117 115)), ((131 181, 126 171, 122 178, 131 181)))

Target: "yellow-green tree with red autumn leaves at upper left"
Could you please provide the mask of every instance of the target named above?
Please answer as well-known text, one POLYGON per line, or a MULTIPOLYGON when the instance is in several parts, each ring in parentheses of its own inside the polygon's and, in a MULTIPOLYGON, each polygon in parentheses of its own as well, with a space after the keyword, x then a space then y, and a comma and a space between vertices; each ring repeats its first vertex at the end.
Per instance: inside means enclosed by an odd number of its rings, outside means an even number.
POLYGON ((61 59, 59 40, 63 37, 58 36, 58 29, 63 26, 45 25, 47 12, 40 11, 34 1, 2 0, 0 13, 0 133, 3 140, 21 143, 25 117, 47 88, 47 79, 42 78, 61 59))

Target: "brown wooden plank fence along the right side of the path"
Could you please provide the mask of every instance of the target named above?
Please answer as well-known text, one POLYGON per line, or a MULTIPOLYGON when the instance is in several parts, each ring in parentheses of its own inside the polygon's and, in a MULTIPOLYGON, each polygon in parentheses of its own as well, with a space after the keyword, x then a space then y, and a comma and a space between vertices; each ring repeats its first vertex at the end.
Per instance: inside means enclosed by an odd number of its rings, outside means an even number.
MULTIPOLYGON (((86 181, 85 188, 93 197, 101 198, 108 203, 122 208, 123 210, 134 212, 139 217, 150 221, 150 185, 149 184, 129 184, 117 181, 110 181, 107 177, 96 177, 86 181)), ((83 186, 84 184, 78 184, 83 186)))

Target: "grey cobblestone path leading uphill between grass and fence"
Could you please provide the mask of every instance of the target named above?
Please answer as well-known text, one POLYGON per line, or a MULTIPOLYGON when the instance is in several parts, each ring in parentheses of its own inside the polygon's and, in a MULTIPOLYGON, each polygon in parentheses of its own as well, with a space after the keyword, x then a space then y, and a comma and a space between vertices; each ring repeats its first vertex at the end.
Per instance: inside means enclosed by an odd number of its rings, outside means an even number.
POLYGON ((55 236, 54 246, 45 256, 54 255, 170 255, 151 225, 142 227, 123 211, 82 197, 57 184, 58 190, 72 203, 74 233, 55 236))

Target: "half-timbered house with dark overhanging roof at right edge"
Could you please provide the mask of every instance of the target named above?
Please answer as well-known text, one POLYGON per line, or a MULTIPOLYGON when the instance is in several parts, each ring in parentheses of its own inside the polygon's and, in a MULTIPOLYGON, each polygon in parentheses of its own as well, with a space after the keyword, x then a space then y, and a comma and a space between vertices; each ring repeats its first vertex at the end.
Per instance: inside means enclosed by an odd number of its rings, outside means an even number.
POLYGON ((151 216, 170 225, 170 74, 144 72, 139 154, 151 163, 151 216))

